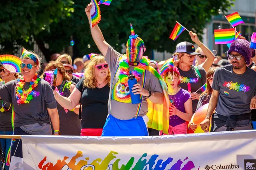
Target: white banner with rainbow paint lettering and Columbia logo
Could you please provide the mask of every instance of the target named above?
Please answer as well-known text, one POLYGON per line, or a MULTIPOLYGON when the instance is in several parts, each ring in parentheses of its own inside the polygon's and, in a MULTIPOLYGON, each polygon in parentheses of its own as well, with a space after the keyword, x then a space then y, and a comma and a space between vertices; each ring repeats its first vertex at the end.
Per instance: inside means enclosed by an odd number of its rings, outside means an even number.
POLYGON ((171 136, 22 136, 24 170, 256 170, 256 130, 171 136))

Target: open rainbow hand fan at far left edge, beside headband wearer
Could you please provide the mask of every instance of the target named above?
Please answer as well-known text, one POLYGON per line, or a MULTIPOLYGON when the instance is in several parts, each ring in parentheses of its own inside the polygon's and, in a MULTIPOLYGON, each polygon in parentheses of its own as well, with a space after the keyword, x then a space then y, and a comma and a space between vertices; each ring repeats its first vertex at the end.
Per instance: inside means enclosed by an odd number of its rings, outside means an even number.
POLYGON ((11 73, 20 73, 21 59, 13 55, 0 55, 0 63, 11 73))

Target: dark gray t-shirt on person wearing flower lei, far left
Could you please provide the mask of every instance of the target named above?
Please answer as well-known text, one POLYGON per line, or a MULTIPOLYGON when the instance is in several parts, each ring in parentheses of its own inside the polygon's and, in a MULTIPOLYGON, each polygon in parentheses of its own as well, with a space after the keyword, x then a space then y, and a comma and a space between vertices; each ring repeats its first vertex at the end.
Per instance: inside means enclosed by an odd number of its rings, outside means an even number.
MULTIPOLYGON (((56 108, 56 101, 50 84, 44 79, 41 79, 38 82, 38 86, 35 88, 35 91, 38 91, 40 95, 33 97, 29 103, 20 105, 18 105, 15 96, 16 84, 17 79, 0 86, 0 97, 6 102, 12 103, 14 106, 14 126, 20 127, 34 123, 50 124, 47 108, 56 108)), ((29 88, 29 84, 29 82, 26 82, 23 89, 29 88)))

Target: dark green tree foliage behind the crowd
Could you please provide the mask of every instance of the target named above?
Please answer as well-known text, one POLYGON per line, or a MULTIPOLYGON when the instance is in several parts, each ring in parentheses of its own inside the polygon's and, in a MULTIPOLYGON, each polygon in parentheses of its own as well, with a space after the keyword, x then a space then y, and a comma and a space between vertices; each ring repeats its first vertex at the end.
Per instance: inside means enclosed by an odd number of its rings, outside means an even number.
MULTIPOLYGON (((54 2, 56 1, 29 0, 26 5, 6 3, 12 9, 8 15, 15 18, 12 20, 11 17, 5 17, 8 24, 0 24, 0 28, 5 28, 3 35, 0 33, 0 43, 5 43, 6 40, 20 42, 17 41, 20 37, 23 42, 25 40, 28 43, 32 35, 47 59, 50 54, 67 48, 72 39, 75 41, 75 56, 99 52, 91 37, 84 12, 90 0, 73 0, 73 4, 68 0, 54 2), (41 8, 42 6, 44 7, 41 8), (30 10, 25 10, 26 8, 30 10), (44 43, 49 44, 49 49, 44 47, 44 43), (87 47, 88 44, 90 48, 87 47)), ((218 14, 218 9, 226 12, 231 5, 230 0, 113 0, 110 6, 100 5, 102 20, 99 27, 105 40, 117 51, 121 51, 121 45, 128 40, 132 23, 135 33, 145 42, 146 55, 150 55, 152 49, 173 52, 178 42, 191 42, 187 31, 175 42, 169 39, 176 20, 201 35, 206 23, 213 15, 218 14)), ((6 9, 3 6, 1 8, 6 9)))

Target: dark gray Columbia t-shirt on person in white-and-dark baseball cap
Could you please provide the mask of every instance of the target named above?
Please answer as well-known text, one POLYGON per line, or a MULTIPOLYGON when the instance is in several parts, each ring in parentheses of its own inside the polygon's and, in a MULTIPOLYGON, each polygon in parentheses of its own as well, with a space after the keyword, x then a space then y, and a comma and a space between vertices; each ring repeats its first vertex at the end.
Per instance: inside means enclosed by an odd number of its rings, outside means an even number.
MULTIPOLYGON (((194 65, 191 65, 191 68, 189 71, 182 71, 179 67, 178 69, 180 71, 180 77, 181 77, 181 81, 180 81, 181 88, 188 90, 188 82, 190 82, 191 93, 193 93, 193 92, 196 92, 199 88, 202 87, 202 85, 206 83, 206 71, 204 70, 204 68, 198 67, 198 71, 201 74, 201 78, 196 72, 194 65)), ((197 93, 201 94, 202 90, 200 89, 197 93)), ((198 100, 197 99, 192 100, 193 113, 195 113, 197 105, 198 105, 198 100)))

